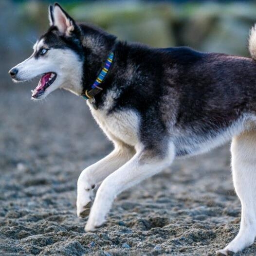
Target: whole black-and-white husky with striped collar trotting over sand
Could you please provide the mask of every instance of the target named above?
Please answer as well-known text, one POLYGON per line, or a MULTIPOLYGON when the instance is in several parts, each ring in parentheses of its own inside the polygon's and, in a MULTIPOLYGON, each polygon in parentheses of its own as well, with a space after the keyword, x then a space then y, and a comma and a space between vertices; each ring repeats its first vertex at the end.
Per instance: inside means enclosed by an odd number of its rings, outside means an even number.
POLYGON ((50 28, 34 53, 9 73, 15 82, 41 76, 32 98, 63 88, 89 100, 98 125, 114 144, 77 182, 77 215, 86 231, 104 222, 117 194, 160 172, 176 157, 210 150, 232 139, 232 169, 241 201, 237 237, 219 255, 238 252, 256 236, 256 29, 251 58, 155 49, 122 42, 77 24, 57 3, 50 28))

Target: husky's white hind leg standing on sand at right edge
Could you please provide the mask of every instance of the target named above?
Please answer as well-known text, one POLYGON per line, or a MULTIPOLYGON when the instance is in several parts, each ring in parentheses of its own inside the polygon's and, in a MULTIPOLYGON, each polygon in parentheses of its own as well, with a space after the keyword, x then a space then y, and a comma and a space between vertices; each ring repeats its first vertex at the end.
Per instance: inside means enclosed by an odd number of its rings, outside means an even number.
POLYGON ((238 235, 218 255, 229 255, 250 246, 256 236, 256 131, 235 137, 231 145, 235 190, 241 201, 238 235))

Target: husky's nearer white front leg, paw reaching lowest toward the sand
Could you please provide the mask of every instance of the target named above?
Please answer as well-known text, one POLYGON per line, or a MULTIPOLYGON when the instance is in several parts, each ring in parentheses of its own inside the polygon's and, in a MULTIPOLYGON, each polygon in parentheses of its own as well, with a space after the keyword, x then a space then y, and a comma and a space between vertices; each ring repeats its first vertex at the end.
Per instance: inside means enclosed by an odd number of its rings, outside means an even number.
POLYGON ((154 149, 143 149, 131 160, 110 174, 100 185, 91 208, 86 231, 95 231, 104 222, 111 204, 119 193, 136 183, 160 172, 174 159, 174 145, 171 144, 161 153, 154 149))

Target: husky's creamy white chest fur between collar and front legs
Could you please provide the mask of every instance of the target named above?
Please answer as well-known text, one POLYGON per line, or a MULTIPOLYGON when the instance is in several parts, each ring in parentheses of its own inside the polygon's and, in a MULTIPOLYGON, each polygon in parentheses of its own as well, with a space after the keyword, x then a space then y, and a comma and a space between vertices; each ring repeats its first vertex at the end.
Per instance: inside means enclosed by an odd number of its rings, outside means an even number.
MULTIPOLYGON (((90 106, 90 105, 89 105, 90 106)), ((108 114, 106 110, 95 110, 92 116, 111 141, 122 141, 130 146, 138 143, 139 118, 132 110, 120 110, 108 114)))

